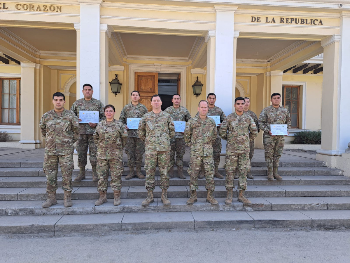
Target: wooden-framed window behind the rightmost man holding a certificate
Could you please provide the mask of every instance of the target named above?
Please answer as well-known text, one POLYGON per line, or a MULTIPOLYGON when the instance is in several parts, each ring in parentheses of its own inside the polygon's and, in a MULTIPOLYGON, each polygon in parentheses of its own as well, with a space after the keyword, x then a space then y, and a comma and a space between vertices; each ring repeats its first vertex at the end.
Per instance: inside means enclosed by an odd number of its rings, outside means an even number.
POLYGON ((287 108, 292 119, 292 128, 299 128, 300 86, 282 86, 282 106, 287 108))

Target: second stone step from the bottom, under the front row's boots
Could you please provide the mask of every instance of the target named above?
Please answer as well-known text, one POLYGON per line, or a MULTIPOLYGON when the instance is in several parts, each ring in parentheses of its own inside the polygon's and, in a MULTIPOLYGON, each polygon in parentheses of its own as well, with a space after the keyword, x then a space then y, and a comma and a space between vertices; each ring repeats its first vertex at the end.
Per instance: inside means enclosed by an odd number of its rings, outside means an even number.
POLYGON ((73 201, 72 207, 64 207, 63 201, 57 205, 42 208, 43 200, 0 201, 0 216, 4 215, 83 215, 110 213, 145 213, 145 212, 184 212, 184 211, 279 211, 279 210, 350 210, 350 197, 250 197, 252 205, 243 205, 233 198, 232 205, 225 204, 225 197, 217 197, 218 205, 206 202, 205 197, 198 197, 198 202, 187 205, 188 197, 169 198, 171 205, 165 206, 160 198, 143 207, 144 198, 122 199, 118 206, 113 199, 107 203, 95 205, 96 199, 73 201))

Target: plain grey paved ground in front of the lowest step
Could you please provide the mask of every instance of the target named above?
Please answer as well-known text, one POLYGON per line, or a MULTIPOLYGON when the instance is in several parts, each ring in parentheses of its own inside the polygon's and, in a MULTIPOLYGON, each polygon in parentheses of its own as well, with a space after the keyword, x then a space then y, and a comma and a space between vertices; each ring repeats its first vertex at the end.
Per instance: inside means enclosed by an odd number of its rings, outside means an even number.
POLYGON ((0 236, 0 262, 349 262, 350 230, 163 230, 0 236))

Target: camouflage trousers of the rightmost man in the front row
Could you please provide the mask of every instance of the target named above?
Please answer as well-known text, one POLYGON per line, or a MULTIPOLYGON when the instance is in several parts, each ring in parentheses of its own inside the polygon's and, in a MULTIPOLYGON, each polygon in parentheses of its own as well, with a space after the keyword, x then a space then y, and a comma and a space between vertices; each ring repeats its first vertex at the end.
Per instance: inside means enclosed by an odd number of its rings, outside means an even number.
POLYGON ((249 154, 236 154, 226 152, 225 171, 226 171, 226 189, 235 188, 233 177, 238 166, 238 190, 247 190, 247 172, 250 170, 249 154))

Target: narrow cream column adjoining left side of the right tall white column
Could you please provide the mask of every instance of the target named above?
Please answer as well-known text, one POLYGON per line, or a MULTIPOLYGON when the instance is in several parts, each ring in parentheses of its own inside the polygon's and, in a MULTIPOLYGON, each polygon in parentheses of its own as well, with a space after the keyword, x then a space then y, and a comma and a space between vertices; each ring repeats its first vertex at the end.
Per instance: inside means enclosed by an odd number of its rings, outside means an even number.
POLYGON ((209 30, 205 35, 207 42, 207 81, 206 93, 214 93, 215 85, 215 30, 209 30))

